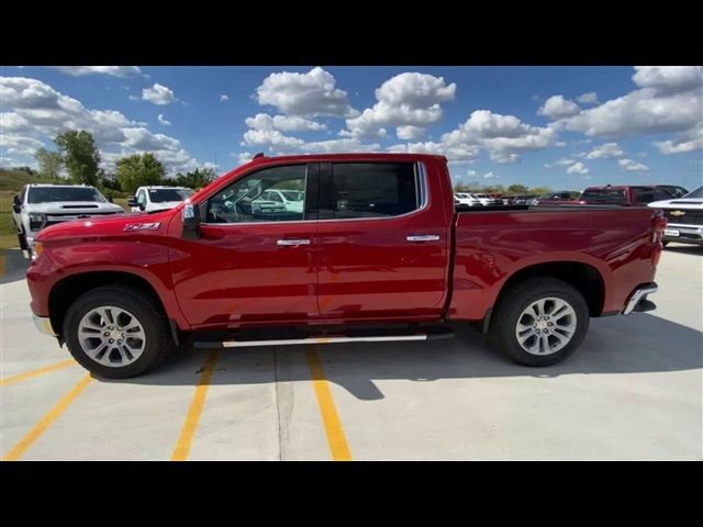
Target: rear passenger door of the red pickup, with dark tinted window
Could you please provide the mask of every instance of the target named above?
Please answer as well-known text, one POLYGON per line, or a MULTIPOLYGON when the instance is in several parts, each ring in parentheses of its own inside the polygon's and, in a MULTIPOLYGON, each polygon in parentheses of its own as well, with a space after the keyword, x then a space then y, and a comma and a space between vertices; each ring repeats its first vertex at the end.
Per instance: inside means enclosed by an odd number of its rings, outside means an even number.
MULTIPOLYGON (((448 266, 438 180, 421 162, 322 164, 320 314, 330 318, 437 315, 448 266)), ((449 190, 447 190, 449 192, 449 190)))

